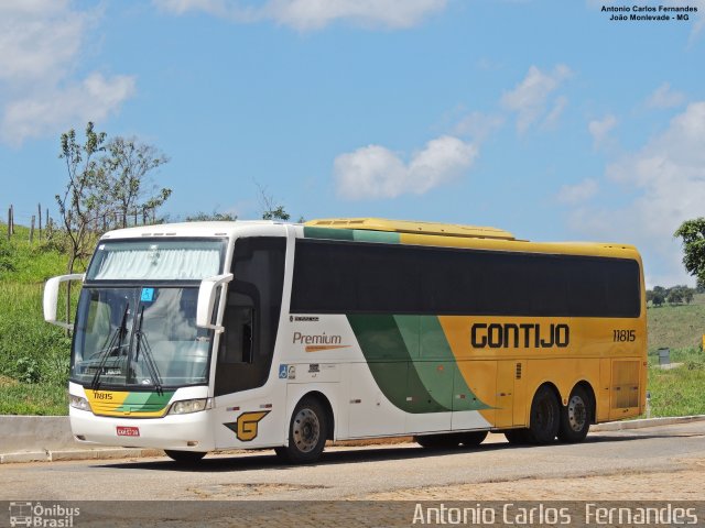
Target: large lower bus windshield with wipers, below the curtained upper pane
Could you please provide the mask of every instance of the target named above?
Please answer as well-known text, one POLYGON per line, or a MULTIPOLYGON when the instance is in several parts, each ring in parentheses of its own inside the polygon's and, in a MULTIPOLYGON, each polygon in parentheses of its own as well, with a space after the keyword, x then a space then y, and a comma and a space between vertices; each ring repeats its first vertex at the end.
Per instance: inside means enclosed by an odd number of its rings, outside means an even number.
POLYGON ((196 327, 197 287, 84 287, 72 381, 84 386, 208 382, 213 331, 196 327))

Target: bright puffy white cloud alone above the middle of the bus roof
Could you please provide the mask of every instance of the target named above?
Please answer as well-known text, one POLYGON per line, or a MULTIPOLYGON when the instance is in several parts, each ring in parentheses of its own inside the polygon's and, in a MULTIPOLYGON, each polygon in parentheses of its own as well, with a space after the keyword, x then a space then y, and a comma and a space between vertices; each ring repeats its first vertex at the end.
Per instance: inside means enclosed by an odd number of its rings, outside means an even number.
POLYGON ((474 144, 449 135, 426 143, 408 164, 389 148, 364 146, 336 157, 337 193, 351 200, 423 195, 468 169, 477 154, 474 144))

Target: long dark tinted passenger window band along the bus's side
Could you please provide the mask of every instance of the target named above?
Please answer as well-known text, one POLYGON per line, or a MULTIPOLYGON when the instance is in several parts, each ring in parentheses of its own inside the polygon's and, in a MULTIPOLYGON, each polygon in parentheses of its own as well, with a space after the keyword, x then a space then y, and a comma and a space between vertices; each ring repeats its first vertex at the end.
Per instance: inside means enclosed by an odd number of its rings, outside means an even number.
POLYGON ((546 255, 296 241, 292 312, 638 317, 639 265, 546 255))

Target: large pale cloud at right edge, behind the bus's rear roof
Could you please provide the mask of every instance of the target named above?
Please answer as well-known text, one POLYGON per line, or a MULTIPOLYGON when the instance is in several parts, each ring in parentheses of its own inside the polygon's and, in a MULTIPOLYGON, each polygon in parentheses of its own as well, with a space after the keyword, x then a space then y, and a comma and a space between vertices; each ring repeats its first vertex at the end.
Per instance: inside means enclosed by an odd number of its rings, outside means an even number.
POLYGON ((608 165, 606 176, 633 199, 618 209, 575 211, 573 228, 601 240, 636 243, 652 285, 692 283, 673 232, 684 220, 703 216, 705 101, 688 105, 642 148, 608 165))

